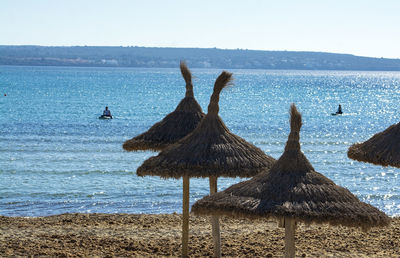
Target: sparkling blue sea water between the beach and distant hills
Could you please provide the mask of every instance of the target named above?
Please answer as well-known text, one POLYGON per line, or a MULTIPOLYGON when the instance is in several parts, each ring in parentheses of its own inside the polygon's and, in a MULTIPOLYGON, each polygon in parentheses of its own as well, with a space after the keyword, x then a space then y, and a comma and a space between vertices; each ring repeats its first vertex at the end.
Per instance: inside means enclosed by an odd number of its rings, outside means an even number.
MULTIPOLYGON (((192 70, 205 112, 221 71, 192 70)), ((399 72, 231 72, 234 86, 221 93, 220 116, 233 133, 279 158, 296 103, 301 148, 315 170, 400 215, 400 169, 346 155, 351 144, 399 122, 399 72), (344 114, 332 116, 339 104, 344 114)), ((0 215, 181 212, 182 180, 136 176, 157 153, 122 149, 184 97, 178 68, 0 66, 0 94, 0 215), (105 106, 114 119, 98 119, 105 106)), ((218 190, 241 180, 220 178, 218 190)), ((193 204, 208 194, 209 183, 190 183, 193 204)))

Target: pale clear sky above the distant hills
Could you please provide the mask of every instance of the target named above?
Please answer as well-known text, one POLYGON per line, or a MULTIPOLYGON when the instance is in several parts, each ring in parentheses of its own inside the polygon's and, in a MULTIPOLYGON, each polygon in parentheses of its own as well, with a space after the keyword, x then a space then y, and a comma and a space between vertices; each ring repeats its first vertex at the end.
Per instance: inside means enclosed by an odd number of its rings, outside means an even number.
POLYGON ((400 0, 0 0, 1 45, 217 47, 400 58, 400 0))

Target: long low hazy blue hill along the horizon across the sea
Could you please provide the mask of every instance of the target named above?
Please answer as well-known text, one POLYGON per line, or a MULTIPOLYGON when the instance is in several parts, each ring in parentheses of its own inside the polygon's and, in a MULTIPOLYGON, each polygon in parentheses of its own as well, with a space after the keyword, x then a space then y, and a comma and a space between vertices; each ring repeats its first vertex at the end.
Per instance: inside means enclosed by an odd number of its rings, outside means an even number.
POLYGON ((0 46, 0 65, 400 71, 400 59, 217 48, 0 46))

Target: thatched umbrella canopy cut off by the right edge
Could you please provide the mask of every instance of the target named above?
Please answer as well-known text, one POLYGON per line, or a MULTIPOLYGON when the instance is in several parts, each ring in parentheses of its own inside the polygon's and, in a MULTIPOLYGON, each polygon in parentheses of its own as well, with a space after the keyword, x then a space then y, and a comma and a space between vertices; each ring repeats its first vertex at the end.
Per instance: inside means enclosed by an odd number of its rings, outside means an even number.
POLYGON ((353 144, 347 156, 375 165, 400 168, 400 123, 375 134, 364 143, 353 144))

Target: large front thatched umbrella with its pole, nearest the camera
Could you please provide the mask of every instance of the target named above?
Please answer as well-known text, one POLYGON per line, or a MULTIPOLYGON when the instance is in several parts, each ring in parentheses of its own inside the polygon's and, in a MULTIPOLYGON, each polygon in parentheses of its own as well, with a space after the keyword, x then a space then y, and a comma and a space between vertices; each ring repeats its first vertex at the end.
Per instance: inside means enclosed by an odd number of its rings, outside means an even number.
POLYGON ((316 172, 300 150, 301 115, 291 107, 290 134, 285 151, 273 167, 254 178, 198 200, 200 215, 274 218, 285 225, 285 255, 293 257, 295 222, 329 223, 367 229, 390 219, 361 202, 346 188, 316 172))

